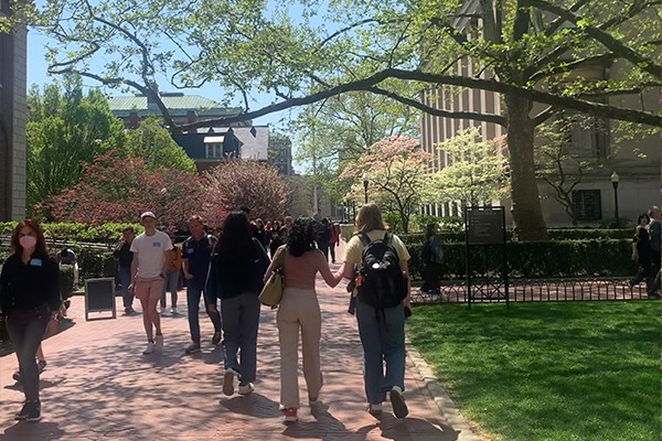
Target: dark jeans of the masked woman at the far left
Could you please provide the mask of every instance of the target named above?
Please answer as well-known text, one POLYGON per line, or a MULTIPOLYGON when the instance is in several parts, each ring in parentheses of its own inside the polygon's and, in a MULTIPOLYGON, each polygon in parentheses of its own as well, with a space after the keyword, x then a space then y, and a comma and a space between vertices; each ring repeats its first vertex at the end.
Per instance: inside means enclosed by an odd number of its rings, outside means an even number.
POLYGON ((50 320, 50 315, 25 316, 21 311, 7 318, 7 333, 17 352, 26 400, 39 400, 39 370, 34 357, 50 320))

